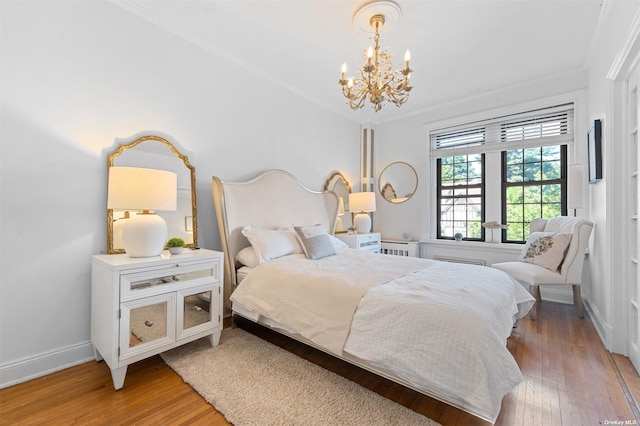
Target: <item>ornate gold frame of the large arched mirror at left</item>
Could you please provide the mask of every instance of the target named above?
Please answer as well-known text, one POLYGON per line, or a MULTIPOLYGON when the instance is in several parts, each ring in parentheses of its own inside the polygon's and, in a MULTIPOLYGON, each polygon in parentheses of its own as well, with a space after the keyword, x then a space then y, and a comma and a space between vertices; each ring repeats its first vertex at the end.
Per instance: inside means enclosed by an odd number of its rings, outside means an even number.
MULTIPOLYGON (((189 162, 189 158, 176 149, 176 147, 162 136, 144 135, 136 138, 133 142, 122 143, 116 150, 107 157, 107 182, 109 181, 109 168, 113 166, 113 161, 123 152, 136 147, 146 141, 156 141, 164 144, 171 150, 173 155, 184 162, 191 175, 191 213, 193 216, 193 243, 185 244, 187 248, 198 247, 198 210, 196 203, 196 168, 189 162)), ((125 253, 124 249, 113 248, 113 210, 107 209, 107 254, 125 253)))

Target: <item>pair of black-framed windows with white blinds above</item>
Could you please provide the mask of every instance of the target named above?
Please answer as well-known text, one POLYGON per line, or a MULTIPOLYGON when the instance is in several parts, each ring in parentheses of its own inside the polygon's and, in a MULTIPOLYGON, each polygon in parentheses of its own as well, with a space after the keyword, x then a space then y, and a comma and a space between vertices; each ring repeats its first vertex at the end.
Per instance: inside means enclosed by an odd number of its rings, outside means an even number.
POLYGON ((485 241, 482 223, 496 221, 502 242, 522 243, 531 220, 566 214, 573 104, 439 129, 430 143, 437 238, 485 241))

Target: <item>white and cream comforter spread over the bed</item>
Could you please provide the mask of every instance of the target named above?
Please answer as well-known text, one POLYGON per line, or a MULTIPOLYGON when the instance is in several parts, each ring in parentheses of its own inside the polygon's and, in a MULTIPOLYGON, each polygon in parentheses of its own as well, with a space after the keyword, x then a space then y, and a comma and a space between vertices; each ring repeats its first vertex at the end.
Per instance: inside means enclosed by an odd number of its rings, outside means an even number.
POLYGON ((506 339, 514 318, 534 302, 520 284, 492 268, 352 249, 320 260, 293 255, 261 265, 231 300, 316 343, 325 341, 324 347, 327 338, 332 345, 342 341, 345 353, 491 422, 504 395, 522 381, 506 339), (285 270, 294 273, 285 278, 285 270), (354 278, 358 271, 365 271, 361 284, 354 278), (379 279, 372 280, 376 271, 379 279), (347 293, 340 291, 345 283, 347 293), (357 309, 350 307, 354 298, 357 309), (340 337, 340 327, 337 334, 318 333, 332 328, 334 319, 344 322, 349 309, 355 312, 347 320, 348 337, 340 337))

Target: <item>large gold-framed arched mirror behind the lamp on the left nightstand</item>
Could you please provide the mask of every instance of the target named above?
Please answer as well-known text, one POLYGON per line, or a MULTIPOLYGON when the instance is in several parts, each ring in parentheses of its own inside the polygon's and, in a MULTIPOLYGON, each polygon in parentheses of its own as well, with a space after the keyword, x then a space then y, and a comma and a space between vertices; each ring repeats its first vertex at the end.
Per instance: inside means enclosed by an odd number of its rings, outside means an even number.
MULTIPOLYGON (((107 172, 111 166, 145 167, 167 170, 177 174, 178 202, 176 211, 157 212, 167 222, 169 238, 182 238, 185 247, 198 246, 198 217, 196 210, 196 169, 174 143, 157 135, 134 136, 107 158, 107 172)), ((107 253, 124 253, 121 224, 132 212, 107 209, 107 253)))

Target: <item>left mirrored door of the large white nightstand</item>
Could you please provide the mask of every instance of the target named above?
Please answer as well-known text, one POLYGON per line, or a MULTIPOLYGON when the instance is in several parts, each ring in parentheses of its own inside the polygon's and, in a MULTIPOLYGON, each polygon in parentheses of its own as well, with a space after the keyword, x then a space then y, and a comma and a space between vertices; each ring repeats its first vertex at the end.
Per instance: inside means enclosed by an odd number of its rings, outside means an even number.
POLYGON ((173 294, 143 299, 122 305, 120 357, 128 358, 175 341, 173 294))

